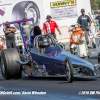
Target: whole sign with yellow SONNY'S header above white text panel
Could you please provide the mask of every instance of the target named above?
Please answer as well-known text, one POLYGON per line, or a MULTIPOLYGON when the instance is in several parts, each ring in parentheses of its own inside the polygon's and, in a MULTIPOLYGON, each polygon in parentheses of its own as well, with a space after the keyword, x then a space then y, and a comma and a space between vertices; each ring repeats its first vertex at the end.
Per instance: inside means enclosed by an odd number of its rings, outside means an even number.
POLYGON ((51 15, 54 20, 78 17, 76 0, 52 2, 51 15))

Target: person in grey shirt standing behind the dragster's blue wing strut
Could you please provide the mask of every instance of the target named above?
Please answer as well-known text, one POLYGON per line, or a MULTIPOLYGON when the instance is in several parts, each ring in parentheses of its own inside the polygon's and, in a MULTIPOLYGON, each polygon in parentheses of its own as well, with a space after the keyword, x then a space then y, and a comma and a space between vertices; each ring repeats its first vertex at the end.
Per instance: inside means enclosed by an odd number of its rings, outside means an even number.
MULTIPOLYGON (((27 19, 27 18, 23 18, 23 20, 25 20, 25 19, 27 19)), ((23 22, 21 27, 22 27, 22 30, 23 30, 23 34, 24 34, 25 40, 28 43, 29 32, 31 30, 31 25, 28 22, 23 22)))

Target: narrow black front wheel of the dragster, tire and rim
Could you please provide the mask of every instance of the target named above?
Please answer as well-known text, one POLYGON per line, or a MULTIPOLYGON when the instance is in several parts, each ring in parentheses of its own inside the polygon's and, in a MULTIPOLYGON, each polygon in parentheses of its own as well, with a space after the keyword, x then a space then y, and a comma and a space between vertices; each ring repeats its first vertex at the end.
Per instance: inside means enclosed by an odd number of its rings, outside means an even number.
POLYGON ((66 74, 66 79, 67 79, 68 83, 73 82, 73 80, 74 80, 73 65, 69 58, 65 59, 65 74, 66 74))

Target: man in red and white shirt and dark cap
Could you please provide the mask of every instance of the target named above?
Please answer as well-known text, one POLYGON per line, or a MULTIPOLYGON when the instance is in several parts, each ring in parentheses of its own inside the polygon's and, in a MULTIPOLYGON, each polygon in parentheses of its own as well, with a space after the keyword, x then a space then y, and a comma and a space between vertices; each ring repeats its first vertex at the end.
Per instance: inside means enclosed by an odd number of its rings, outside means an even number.
POLYGON ((61 32, 58 28, 58 25, 55 21, 52 21, 52 17, 50 15, 47 15, 46 17, 47 21, 43 24, 43 30, 44 33, 49 33, 51 35, 54 36, 54 38, 56 38, 56 34, 55 34, 55 28, 58 30, 59 34, 61 35, 61 32))

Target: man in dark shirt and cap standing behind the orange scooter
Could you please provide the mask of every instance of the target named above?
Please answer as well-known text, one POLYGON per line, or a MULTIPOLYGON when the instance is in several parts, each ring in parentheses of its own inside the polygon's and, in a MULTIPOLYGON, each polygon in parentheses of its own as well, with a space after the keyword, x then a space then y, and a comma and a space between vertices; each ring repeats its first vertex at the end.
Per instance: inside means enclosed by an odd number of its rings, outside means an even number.
POLYGON ((84 31, 84 36, 85 36, 85 40, 87 42, 88 47, 89 46, 89 29, 88 29, 88 23, 89 26, 91 26, 91 19, 88 15, 85 15, 85 10, 81 9, 81 13, 82 15, 78 17, 77 23, 78 26, 82 28, 82 30, 84 31))

